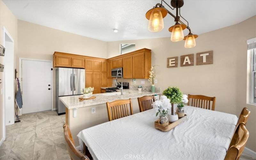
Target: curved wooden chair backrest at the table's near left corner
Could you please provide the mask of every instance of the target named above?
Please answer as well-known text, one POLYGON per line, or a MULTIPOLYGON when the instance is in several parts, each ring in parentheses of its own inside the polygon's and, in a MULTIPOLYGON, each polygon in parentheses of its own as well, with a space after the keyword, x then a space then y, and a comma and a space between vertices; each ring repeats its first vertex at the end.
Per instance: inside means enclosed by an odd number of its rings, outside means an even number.
POLYGON ((76 149, 68 124, 63 125, 63 130, 70 158, 72 160, 89 160, 87 156, 83 155, 81 152, 79 152, 79 150, 76 149))

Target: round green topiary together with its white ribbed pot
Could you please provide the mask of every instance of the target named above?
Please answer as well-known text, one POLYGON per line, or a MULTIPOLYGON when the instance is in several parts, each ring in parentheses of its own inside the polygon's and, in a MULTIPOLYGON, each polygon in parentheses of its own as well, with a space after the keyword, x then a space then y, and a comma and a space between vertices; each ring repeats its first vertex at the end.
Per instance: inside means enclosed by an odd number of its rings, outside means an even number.
POLYGON ((169 122, 175 122, 179 119, 179 117, 176 113, 174 113, 174 103, 180 103, 183 98, 183 94, 178 87, 168 87, 164 90, 163 95, 165 95, 172 104, 171 113, 168 113, 169 122))

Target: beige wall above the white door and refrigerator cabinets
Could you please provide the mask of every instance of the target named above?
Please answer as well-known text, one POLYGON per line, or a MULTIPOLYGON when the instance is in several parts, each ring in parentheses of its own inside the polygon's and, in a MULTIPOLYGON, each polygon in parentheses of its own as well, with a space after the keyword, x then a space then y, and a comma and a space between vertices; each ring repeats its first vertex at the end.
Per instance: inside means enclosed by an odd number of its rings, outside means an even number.
MULTIPOLYGON (((107 42, 18 20, 18 58, 53 60, 53 53, 66 52, 107 58, 107 42)), ((55 69, 53 70, 55 108, 55 69)))

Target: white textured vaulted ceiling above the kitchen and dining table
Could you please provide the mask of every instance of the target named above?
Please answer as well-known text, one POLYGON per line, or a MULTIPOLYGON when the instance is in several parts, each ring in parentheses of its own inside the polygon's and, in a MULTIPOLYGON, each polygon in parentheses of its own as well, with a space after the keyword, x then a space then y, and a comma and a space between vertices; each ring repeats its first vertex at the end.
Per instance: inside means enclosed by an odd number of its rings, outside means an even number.
MULTIPOLYGON (((168 28, 174 24, 174 19, 167 15, 162 31, 148 31, 145 14, 161 0, 3 1, 19 20, 102 41, 169 37, 168 28), (119 31, 115 33, 113 28, 119 31)), ((170 4, 170 0, 166 2, 170 4)), ((167 8, 167 5, 164 6, 167 8)), ((169 11, 175 13, 171 9, 169 11)), ((256 15, 256 1, 185 0, 180 11, 188 20, 192 33, 202 34, 256 15)))

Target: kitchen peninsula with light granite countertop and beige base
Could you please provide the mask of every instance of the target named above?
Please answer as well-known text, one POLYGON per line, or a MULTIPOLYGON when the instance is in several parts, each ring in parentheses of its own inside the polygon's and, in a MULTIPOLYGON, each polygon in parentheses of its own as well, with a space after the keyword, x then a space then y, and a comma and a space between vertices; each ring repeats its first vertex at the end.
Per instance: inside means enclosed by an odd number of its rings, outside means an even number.
MULTIPOLYGON (((60 101, 66 106, 66 123, 69 125, 72 135, 77 135, 78 132, 85 128, 108 122, 106 102, 112 102, 114 100, 127 100, 131 98, 133 114, 136 114, 140 112, 137 98, 145 95, 156 94, 160 94, 160 91, 156 90, 155 93, 152 93, 125 89, 124 95, 121 95, 121 92, 93 94, 96 96, 95 99, 84 101, 79 101, 78 98, 81 95, 74 95, 60 97, 60 101), (92 110, 95 112, 92 113, 92 110)), ((74 136, 74 140, 76 145, 78 145, 79 143, 76 136, 74 136)))

